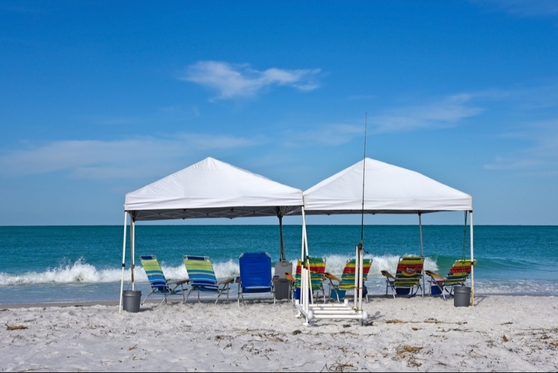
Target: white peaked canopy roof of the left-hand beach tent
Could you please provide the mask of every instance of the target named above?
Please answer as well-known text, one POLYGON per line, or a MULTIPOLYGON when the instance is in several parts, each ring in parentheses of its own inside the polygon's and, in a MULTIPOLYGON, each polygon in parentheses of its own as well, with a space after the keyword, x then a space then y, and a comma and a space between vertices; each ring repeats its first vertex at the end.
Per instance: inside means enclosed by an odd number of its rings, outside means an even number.
POLYGON ((134 220, 285 215, 302 206, 302 190, 206 158, 126 194, 134 220))

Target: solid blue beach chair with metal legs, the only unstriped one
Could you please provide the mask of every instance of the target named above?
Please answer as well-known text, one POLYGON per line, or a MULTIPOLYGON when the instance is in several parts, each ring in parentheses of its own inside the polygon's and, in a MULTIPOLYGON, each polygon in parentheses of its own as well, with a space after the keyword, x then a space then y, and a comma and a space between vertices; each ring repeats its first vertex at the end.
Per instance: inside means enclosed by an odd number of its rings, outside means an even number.
POLYGON ((267 252, 245 252, 239 257, 240 276, 238 305, 245 295, 273 294, 275 305, 275 284, 279 276, 271 277, 271 256, 267 252))

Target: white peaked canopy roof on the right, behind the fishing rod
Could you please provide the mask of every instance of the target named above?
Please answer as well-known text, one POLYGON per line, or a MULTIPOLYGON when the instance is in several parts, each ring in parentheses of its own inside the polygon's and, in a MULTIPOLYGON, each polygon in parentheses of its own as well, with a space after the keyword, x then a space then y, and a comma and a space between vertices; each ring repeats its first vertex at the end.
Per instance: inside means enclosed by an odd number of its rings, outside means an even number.
POLYGON ((365 213, 432 213, 473 209, 472 197, 464 192, 418 172, 365 158, 306 190, 303 193, 305 212, 362 213, 363 181, 365 213))

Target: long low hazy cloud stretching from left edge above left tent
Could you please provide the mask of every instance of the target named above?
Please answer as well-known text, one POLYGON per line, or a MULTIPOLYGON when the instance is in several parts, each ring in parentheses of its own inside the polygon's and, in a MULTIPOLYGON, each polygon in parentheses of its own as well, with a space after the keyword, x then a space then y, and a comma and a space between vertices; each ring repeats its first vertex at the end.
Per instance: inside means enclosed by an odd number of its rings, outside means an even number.
POLYGON ((0 156, 0 175, 24 176, 69 172, 77 178, 115 178, 158 171, 202 151, 225 151, 257 146, 263 139, 229 135, 182 133, 169 138, 142 137, 119 141, 73 140, 28 146, 0 156), (141 166, 140 166, 141 165, 141 166))

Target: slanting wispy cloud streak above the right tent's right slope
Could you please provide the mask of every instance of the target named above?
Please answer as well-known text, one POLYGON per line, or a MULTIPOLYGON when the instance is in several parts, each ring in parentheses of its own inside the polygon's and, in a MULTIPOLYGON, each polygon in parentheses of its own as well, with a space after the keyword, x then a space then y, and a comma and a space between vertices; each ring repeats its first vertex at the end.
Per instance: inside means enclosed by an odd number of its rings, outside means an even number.
POLYGON ((384 114, 370 116, 375 132, 407 132, 425 128, 454 126, 461 119, 483 112, 472 105, 472 95, 462 93, 425 105, 389 109, 384 114))

